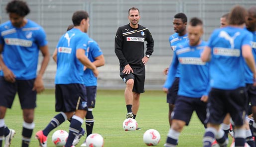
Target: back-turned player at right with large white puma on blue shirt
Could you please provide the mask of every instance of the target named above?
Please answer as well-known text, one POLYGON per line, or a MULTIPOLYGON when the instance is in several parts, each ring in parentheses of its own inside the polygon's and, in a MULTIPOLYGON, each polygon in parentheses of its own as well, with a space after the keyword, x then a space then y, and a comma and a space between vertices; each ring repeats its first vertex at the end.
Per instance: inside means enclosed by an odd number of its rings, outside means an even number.
MULTIPOLYGON (((247 11, 236 5, 229 14, 229 26, 216 29, 201 55, 203 61, 210 60, 210 85, 207 108, 207 129, 203 147, 211 147, 216 138, 219 145, 226 147, 226 136, 220 129, 227 113, 235 123, 234 138, 236 147, 244 147, 246 130, 243 127, 246 117, 248 97, 246 93, 245 68, 247 62, 253 79, 256 67, 252 54, 252 34, 244 29, 247 11)), ((252 79, 252 80, 253 80, 252 79)))

